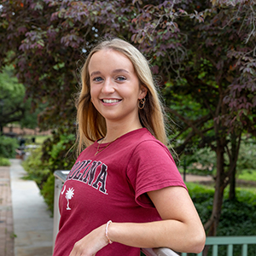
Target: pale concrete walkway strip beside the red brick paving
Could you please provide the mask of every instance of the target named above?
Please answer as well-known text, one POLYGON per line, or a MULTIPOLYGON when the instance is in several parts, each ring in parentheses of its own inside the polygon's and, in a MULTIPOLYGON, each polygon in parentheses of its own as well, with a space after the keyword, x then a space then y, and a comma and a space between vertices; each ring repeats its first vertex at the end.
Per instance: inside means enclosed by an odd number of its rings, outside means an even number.
MULTIPOLYGON (((15 256, 52 255, 53 218, 34 181, 26 176, 20 160, 11 160, 15 256)), ((0 253, 1 255, 1 253, 0 253)))

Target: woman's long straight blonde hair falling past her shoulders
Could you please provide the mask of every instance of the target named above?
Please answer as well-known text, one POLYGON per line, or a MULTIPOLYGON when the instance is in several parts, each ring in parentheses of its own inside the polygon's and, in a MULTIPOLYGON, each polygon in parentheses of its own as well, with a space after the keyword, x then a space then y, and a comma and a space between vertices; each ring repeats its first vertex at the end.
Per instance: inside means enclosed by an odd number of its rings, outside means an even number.
POLYGON ((154 86, 154 80, 148 61, 133 45, 119 38, 114 38, 96 45, 96 47, 90 51, 84 63, 84 67, 81 69, 82 89, 76 102, 76 108, 78 110, 77 142, 79 153, 83 150, 84 146, 89 146, 97 139, 105 137, 107 132, 105 119, 102 117, 102 114, 96 110, 92 102, 90 102, 90 74, 88 71, 91 56, 102 49, 116 50, 128 57, 132 62, 140 84, 145 86, 148 90, 147 96, 145 97, 145 107, 143 109, 138 108, 140 122, 156 139, 167 145, 164 111, 154 86))

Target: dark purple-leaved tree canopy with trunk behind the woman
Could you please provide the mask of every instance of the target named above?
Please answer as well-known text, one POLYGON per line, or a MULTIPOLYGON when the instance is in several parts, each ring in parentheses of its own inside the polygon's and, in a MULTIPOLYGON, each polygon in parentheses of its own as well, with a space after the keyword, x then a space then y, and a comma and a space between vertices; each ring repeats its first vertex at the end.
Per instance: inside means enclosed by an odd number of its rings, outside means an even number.
POLYGON ((177 124, 178 154, 216 154, 216 234, 224 188, 235 195, 241 134, 256 134, 256 1, 1 1, 0 67, 12 63, 42 129, 73 127, 73 96, 86 54, 102 38, 124 38, 148 58, 177 124), (7 58, 9 54, 9 58, 7 58), (57 104, 56 104, 57 102, 57 104))

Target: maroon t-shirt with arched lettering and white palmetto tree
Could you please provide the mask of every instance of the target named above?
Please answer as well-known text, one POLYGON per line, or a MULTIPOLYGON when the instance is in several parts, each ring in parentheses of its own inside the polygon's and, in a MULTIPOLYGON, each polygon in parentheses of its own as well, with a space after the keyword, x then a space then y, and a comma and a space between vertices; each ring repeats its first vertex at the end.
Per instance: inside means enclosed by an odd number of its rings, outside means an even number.
MULTIPOLYGON (((61 220, 53 256, 68 256, 76 241, 108 220, 160 220, 147 192, 168 186, 186 189, 168 148, 146 128, 106 146, 102 143, 98 154, 97 142, 84 149, 67 176, 59 200, 61 220)), ((96 255, 138 256, 140 249, 113 242, 96 255)))

